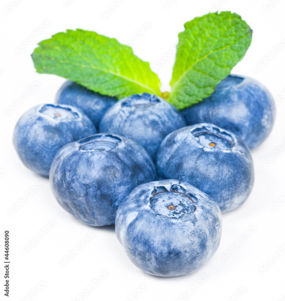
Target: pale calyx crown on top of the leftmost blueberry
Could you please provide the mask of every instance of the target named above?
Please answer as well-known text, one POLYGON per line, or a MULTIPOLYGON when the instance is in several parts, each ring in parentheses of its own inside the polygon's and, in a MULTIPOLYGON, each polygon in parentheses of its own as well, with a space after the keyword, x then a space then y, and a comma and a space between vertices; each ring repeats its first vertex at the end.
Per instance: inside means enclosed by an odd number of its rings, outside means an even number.
POLYGON ((79 118, 79 114, 74 112, 69 107, 62 107, 60 105, 45 104, 39 109, 39 113, 46 118, 54 119, 55 121, 72 120, 79 118))

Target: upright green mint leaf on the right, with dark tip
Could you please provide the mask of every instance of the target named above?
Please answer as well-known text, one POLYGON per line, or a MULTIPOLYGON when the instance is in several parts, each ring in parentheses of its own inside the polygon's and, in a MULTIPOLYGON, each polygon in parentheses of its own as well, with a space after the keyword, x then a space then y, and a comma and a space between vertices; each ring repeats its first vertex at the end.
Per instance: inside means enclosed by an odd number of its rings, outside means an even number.
POLYGON ((244 57, 252 30, 230 11, 209 13, 184 24, 179 33, 169 102, 178 109, 208 97, 244 57))

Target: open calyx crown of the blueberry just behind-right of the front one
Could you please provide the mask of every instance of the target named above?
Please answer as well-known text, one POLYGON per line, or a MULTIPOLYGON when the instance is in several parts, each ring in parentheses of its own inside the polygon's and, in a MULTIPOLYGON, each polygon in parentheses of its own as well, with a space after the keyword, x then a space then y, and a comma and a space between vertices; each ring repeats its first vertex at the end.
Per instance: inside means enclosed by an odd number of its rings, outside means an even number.
POLYGON ((234 146, 234 138, 227 132, 214 126, 200 126, 191 131, 196 140, 207 148, 219 148, 230 151, 234 146))

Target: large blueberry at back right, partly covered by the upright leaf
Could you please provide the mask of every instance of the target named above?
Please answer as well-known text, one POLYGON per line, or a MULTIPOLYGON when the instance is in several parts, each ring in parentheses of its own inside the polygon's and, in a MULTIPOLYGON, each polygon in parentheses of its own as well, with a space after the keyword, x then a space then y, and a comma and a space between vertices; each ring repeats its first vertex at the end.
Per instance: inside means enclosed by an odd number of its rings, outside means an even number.
POLYGON ((239 136, 249 148, 257 147, 270 134, 275 104, 261 83, 245 76, 230 75, 214 93, 181 111, 188 125, 212 123, 239 136))

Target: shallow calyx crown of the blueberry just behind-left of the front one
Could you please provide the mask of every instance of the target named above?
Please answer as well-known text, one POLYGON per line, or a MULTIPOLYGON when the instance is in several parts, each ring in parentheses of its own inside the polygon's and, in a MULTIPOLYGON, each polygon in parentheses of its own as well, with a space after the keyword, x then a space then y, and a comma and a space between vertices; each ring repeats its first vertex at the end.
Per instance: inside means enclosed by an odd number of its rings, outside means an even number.
POLYGON ((83 138, 78 141, 79 149, 82 151, 110 151, 115 148, 119 142, 122 141, 121 138, 106 134, 106 135, 92 135, 87 138, 83 138))

